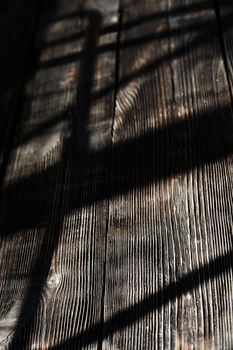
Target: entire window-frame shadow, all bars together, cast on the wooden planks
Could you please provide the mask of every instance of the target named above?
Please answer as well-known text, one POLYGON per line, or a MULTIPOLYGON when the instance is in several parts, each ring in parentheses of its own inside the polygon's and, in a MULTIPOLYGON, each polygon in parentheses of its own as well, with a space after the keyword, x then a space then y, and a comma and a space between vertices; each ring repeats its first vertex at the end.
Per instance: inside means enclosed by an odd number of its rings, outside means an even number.
MULTIPOLYGON (((185 15, 209 8, 209 2, 201 2, 190 8, 174 10, 170 16, 185 15)), ((228 12, 224 19, 226 26, 232 25, 230 21, 232 13, 233 9, 231 8, 231 12, 228 12)), ((37 171, 24 179, 19 179, 2 191, 2 202, 7 204, 4 221, 1 224, 1 239, 13 236, 19 231, 28 231, 27 234, 30 235, 30 229, 35 227, 48 228, 45 230, 37 258, 30 268, 32 278, 11 348, 17 346, 20 346, 21 349, 27 348, 30 341, 30 333, 34 325, 33 314, 36 313, 39 306, 43 286, 48 278, 51 260, 59 241, 59 234, 55 236, 54 232, 60 232, 63 218, 69 211, 107 199, 109 194, 115 196, 164 178, 187 173, 193 169, 201 168, 205 164, 220 161, 230 156, 233 149, 230 137, 232 110, 230 106, 223 106, 221 109, 212 106, 208 110, 194 113, 182 121, 166 124, 138 138, 116 143, 106 149, 90 150, 88 147, 89 132, 86 124, 89 119, 91 103, 116 89, 115 85, 109 85, 103 90, 92 93, 96 56, 108 50, 116 50, 116 46, 112 44, 99 48, 97 39, 98 35, 118 30, 118 26, 101 27, 102 16, 98 11, 83 11, 81 14, 80 12, 70 13, 64 18, 60 16, 53 21, 68 19, 69 16, 85 17, 89 22, 87 29, 77 36, 72 35, 47 45, 60 45, 84 36, 85 49, 78 55, 72 54, 55 58, 42 64, 38 61, 34 64, 34 71, 31 72, 30 76, 33 76, 39 69, 48 69, 76 60, 81 61, 82 83, 78 86, 77 105, 69 111, 69 127, 72 130, 72 136, 64 142, 60 163, 56 163, 46 170, 37 171), (179 153, 177 149, 184 151, 179 153), (189 152, 188 157, 187 152, 189 152), (113 162, 115 171, 109 180, 109 176, 106 176, 105 172, 106 169, 110 172, 111 162, 113 162), (97 169, 97 171, 93 172, 92 169, 97 169), (92 172, 95 176, 95 184, 90 180, 91 177, 87 176, 92 172), (70 184, 68 193, 64 185, 67 181, 70 184), (43 192, 41 188, 43 188, 43 192), (22 197, 23 206, 20 205, 22 197), (66 201, 69 202, 69 206, 65 206, 66 201)), ((137 25, 153 22, 155 19, 163 17, 167 17, 167 12, 136 18, 132 22, 122 24, 121 31, 130 30, 137 25)), ((168 52, 158 60, 151 61, 129 75, 121 77, 117 86, 118 90, 140 75, 151 73, 165 60, 182 59, 184 55, 191 54, 193 50, 208 43, 210 38, 212 43, 218 42, 219 34, 214 20, 201 20, 201 23, 197 21, 195 24, 184 26, 181 24, 172 32, 166 29, 158 35, 149 34, 123 42, 120 45, 121 52, 128 48, 144 46, 154 40, 172 40, 189 33, 196 34, 193 39, 189 40, 188 44, 182 44, 174 52, 168 52)), ((39 56, 39 53, 37 54, 39 56)), ((40 136, 64 118, 65 116, 61 114, 50 121, 41 123, 39 128, 35 127, 34 130, 21 138, 20 144, 16 142, 15 147, 40 136)), ((106 323, 94 325, 77 337, 68 339, 53 349, 77 348, 79 342, 83 342, 80 339, 85 339, 85 344, 91 344, 99 339, 103 328, 104 336, 112 334, 231 268, 232 252, 229 252, 210 262, 208 266, 204 265, 184 276, 180 281, 169 285, 157 294, 151 295, 133 307, 116 314, 106 323)))

